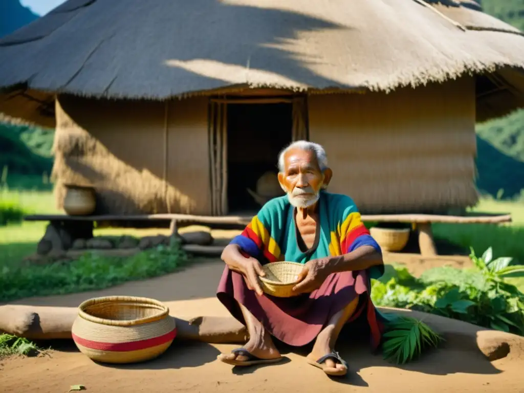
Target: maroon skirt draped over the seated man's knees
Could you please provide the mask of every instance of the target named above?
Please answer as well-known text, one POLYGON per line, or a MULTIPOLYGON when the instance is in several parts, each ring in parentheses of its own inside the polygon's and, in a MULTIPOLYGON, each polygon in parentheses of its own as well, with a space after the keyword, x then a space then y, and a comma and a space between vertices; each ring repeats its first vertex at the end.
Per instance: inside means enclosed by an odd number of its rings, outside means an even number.
POLYGON ((366 271, 347 271, 328 276, 319 289, 309 294, 291 298, 278 298, 265 293, 258 296, 247 288, 241 274, 226 266, 216 296, 239 322, 245 325, 238 303, 249 310, 276 339, 292 346, 312 342, 333 315, 358 297, 357 310, 348 323, 362 320, 358 317, 365 313, 372 347, 376 349, 380 344, 383 325, 377 319, 369 289, 366 271))

